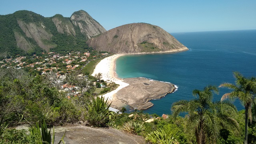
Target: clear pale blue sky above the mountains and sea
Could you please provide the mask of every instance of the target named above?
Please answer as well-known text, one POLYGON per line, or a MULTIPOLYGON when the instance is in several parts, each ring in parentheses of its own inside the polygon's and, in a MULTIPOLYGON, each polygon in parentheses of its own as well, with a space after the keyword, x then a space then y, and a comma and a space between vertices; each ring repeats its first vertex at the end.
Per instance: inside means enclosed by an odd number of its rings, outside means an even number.
POLYGON ((134 22, 170 33, 256 29, 256 0, 0 0, 0 15, 18 10, 44 17, 84 10, 106 30, 134 22))

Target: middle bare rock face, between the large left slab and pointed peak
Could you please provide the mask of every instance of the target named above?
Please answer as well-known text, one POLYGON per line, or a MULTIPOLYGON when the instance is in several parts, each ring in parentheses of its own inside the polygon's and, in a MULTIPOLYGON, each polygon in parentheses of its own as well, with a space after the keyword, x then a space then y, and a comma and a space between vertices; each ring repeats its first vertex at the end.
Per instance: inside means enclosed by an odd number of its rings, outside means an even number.
POLYGON ((56 14, 55 16, 53 16, 52 21, 54 22, 59 33, 64 34, 64 32, 66 32, 67 34, 76 36, 74 26, 67 18, 64 18, 60 14, 56 14))

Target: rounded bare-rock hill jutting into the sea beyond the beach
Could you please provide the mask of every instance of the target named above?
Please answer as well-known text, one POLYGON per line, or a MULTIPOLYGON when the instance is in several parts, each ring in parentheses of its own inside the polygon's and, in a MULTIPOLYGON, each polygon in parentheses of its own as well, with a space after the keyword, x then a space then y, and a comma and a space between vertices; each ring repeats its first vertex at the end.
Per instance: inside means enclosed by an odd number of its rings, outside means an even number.
POLYGON ((172 35, 146 23, 125 24, 95 36, 86 42, 99 51, 115 54, 181 52, 188 48, 172 35))

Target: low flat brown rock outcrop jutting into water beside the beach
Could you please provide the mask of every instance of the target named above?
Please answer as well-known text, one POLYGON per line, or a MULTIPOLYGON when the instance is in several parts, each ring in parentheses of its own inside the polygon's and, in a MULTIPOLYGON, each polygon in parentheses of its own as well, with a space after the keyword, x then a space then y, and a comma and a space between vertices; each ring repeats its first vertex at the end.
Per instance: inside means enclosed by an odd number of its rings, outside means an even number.
POLYGON ((149 100, 158 99, 175 90, 174 84, 148 80, 146 78, 126 78, 123 82, 129 85, 116 93, 116 98, 138 110, 153 106, 149 100))

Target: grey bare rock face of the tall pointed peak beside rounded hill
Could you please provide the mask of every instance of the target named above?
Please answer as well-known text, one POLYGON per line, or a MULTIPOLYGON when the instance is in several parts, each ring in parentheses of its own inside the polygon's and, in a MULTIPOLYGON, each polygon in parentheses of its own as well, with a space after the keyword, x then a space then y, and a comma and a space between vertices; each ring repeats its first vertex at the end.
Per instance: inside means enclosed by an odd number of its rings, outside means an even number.
POLYGON ((70 20, 75 26, 79 26, 82 34, 86 34, 87 38, 90 39, 92 36, 106 32, 105 28, 94 20, 87 12, 80 10, 74 12, 70 17, 70 20))

